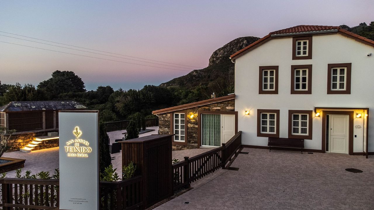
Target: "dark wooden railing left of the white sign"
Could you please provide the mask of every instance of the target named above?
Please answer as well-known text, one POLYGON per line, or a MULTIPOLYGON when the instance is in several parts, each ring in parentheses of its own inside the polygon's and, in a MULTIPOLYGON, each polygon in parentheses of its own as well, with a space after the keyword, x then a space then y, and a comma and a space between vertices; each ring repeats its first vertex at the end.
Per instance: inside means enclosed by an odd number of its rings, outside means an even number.
POLYGON ((1 184, 1 204, 10 209, 59 209, 58 179, 3 178, 1 184))

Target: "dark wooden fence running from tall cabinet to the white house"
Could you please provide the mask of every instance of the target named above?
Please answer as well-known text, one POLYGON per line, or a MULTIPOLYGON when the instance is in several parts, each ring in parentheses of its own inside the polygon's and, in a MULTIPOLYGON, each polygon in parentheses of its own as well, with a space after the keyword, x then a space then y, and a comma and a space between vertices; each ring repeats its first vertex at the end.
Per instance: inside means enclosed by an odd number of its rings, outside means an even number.
POLYGON ((233 155, 242 147, 242 132, 239 131, 226 144, 194 157, 184 157, 173 164, 173 189, 189 187, 190 183, 224 168, 233 155))

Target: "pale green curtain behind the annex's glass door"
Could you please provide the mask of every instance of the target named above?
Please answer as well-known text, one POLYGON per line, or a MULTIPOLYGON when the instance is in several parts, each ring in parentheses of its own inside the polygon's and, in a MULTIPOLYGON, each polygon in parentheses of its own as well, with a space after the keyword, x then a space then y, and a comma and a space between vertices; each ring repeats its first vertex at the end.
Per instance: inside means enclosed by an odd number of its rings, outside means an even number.
POLYGON ((220 146, 221 115, 202 114, 202 145, 220 146))

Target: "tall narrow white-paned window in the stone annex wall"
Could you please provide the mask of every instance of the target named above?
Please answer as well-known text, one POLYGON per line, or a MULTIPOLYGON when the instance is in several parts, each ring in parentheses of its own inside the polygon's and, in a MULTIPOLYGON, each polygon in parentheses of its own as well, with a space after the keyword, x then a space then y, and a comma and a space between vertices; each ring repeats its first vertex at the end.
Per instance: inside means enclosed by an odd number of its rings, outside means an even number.
POLYGON ((173 136, 173 145, 187 145, 187 112, 177 111, 170 113, 170 134, 173 136))

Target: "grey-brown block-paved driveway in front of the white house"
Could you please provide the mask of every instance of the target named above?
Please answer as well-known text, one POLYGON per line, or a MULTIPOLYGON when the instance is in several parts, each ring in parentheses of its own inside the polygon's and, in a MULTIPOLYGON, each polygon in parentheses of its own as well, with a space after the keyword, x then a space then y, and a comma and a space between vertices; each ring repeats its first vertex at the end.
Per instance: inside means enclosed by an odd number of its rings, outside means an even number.
POLYGON ((156 209, 374 209, 373 156, 243 151, 231 165, 238 171, 214 172, 156 209))

